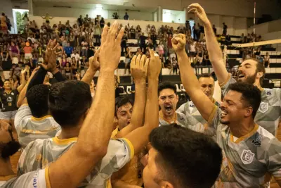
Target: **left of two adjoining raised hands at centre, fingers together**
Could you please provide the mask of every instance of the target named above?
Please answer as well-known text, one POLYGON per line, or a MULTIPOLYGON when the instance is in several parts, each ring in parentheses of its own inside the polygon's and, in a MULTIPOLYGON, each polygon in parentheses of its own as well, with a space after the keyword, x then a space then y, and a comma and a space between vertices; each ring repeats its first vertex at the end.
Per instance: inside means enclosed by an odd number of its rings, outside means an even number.
POLYGON ((149 60, 145 55, 133 56, 131 60, 131 75, 135 82, 146 81, 149 60))

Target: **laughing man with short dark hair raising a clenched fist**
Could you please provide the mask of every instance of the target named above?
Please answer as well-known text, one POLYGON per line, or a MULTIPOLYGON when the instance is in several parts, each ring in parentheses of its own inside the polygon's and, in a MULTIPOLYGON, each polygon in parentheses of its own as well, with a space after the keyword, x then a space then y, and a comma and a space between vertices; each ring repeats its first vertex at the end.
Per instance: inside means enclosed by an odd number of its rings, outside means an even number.
MULTIPOLYGON (((188 6, 200 18, 205 15, 199 4, 188 6)), ((207 126, 216 130, 216 142, 223 150, 221 173, 214 187, 262 187, 272 175, 281 185, 281 142, 254 122, 261 104, 261 91, 247 82, 229 85, 221 103, 215 106, 200 89, 200 84, 185 53, 185 35, 172 39, 178 56, 181 80, 207 126)))

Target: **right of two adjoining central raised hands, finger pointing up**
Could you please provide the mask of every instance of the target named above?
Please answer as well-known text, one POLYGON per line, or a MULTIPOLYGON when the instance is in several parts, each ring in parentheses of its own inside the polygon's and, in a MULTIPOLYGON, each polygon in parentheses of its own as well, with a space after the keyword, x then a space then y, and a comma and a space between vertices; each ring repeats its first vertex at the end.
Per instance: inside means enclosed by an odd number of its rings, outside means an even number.
POLYGON ((160 71, 162 70, 162 63, 159 56, 155 56, 155 52, 150 49, 150 58, 148 65, 148 79, 158 79, 160 71))

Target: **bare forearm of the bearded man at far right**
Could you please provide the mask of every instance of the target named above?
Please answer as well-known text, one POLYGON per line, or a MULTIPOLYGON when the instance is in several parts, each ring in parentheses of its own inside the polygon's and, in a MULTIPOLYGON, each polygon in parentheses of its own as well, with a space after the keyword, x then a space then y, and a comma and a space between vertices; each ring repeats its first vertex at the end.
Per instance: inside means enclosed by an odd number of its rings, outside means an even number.
POLYGON ((204 30, 209 60, 213 65, 216 77, 218 77, 218 82, 223 83, 228 79, 228 71, 226 70, 226 65, 223 63, 221 46, 218 45, 216 35, 214 34, 214 30, 210 22, 207 22, 204 25, 204 30))

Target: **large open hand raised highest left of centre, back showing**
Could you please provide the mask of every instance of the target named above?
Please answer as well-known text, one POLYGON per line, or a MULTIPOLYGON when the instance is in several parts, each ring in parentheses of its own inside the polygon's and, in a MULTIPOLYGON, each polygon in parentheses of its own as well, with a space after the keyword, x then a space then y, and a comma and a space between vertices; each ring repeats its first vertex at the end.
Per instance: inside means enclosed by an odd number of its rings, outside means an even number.
POLYGON ((103 28, 100 46, 100 71, 114 71, 118 67, 121 56, 121 40, 124 35, 123 27, 117 35, 118 27, 119 24, 115 21, 110 29, 107 25, 103 28))

